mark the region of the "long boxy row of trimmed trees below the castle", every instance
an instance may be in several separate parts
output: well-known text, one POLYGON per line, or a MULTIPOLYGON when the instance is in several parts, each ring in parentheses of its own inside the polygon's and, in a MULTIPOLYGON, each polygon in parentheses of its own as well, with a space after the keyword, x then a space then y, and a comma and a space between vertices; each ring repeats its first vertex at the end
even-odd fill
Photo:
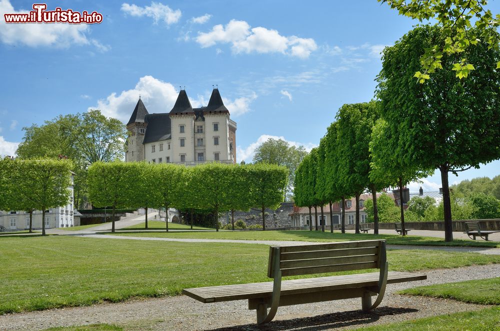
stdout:
MULTIPOLYGON (((191 211, 276 208, 283 201, 288 170, 273 164, 205 163, 193 167, 169 163, 95 162, 88 168, 89 198, 96 207, 177 208, 191 211)), ((234 224, 234 217, 232 217, 234 224)), ((191 217, 192 226, 192 217, 191 217)), ((168 231, 168 221, 165 225, 168 231)))

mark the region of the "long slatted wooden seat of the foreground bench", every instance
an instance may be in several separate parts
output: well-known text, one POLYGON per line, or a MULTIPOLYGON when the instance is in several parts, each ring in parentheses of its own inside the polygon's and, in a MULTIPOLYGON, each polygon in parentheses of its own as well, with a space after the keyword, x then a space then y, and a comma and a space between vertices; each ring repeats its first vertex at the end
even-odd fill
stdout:
MULTIPOLYGON (((281 283, 281 295, 299 294, 306 292, 320 292, 343 288, 357 288, 376 286, 379 273, 360 273, 354 275, 328 276, 319 278, 284 280, 281 283)), ((412 280, 426 279, 421 273, 390 271, 387 283, 397 283, 412 280)), ((220 302, 228 300, 241 300, 259 297, 269 297, 272 294, 272 281, 186 288, 182 293, 201 302, 220 302)))

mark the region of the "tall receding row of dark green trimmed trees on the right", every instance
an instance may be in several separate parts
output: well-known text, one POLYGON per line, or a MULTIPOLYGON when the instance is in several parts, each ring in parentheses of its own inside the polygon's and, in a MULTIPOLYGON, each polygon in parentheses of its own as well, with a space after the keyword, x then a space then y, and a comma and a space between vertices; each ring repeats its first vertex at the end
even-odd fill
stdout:
MULTIPOLYGON (((377 101, 344 104, 319 147, 297 167, 295 203, 322 206, 373 196, 374 233, 378 233, 376 192, 402 187, 438 169, 441 174, 445 240, 453 240, 448 173, 479 167, 500 158, 500 51, 477 42, 464 53, 474 66, 466 79, 455 76, 457 54, 443 54, 442 68, 425 84, 415 80, 425 49, 441 37, 436 26, 418 26, 382 54, 376 81, 377 101)), ((343 208, 342 208, 343 209, 343 208)), ((400 203, 404 229, 403 205, 400 203)), ((344 229, 342 214, 342 231, 344 229)), ((404 231, 403 231, 404 233, 404 231)))

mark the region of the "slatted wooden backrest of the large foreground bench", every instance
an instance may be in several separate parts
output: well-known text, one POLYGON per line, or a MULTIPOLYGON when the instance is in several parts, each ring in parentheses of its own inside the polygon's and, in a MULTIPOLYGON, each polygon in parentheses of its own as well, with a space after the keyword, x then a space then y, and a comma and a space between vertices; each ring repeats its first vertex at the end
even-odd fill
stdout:
POLYGON ((359 240, 269 247, 267 276, 274 277, 276 258, 282 276, 380 268, 385 240, 359 240))

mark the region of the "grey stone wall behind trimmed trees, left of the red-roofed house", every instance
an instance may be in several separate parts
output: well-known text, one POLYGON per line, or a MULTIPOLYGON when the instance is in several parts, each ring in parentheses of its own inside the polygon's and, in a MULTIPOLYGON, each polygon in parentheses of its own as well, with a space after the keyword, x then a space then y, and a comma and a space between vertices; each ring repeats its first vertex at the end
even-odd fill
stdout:
MULTIPOLYGON (((276 228, 276 227, 290 227, 291 218, 289 214, 293 211, 293 202, 281 202, 281 205, 277 209, 266 208, 264 211, 265 227, 266 228, 276 228)), ((237 210, 234 212, 234 221, 242 219, 246 225, 262 225, 262 215, 260 210, 251 208, 249 211, 237 210)), ((223 214, 219 217, 219 221, 222 224, 231 222, 231 212, 223 214)))

